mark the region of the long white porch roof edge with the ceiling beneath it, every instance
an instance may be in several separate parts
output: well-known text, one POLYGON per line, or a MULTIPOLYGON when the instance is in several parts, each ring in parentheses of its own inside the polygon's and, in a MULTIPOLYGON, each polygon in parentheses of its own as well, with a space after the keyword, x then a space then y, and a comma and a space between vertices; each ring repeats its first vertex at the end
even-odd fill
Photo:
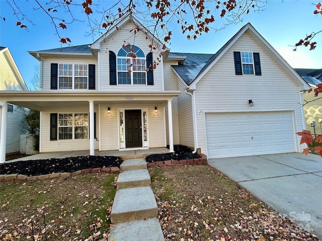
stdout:
POLYGON ((94 104, 108 103, 131 103, 131 104, 162 104, 166 105, 167 100, 178 96, 180 91, 150 92, 150 93, 129 93, 129 92, 49 92, 49 91, 1 91, 0 101, 7 101, 30 109, 41 111, 45 107, 77 107, 89 106, 89 101, 94 104))

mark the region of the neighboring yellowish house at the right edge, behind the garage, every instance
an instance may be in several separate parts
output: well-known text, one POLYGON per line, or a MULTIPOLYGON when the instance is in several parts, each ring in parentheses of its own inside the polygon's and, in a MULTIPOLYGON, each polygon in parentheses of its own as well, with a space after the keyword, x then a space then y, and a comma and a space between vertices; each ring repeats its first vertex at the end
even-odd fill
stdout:
MULTIPOLYGON (((311 86, 312 89, 316 85, 322 83, 322 69, 295 69, 299 75, 311 86)), ((305 92, 303 95, 305 130, 312 134, 322 134, 322 98, 320 95, 314 96, 314 92, 305 92), (311 102, 307 102, 311 101, 311 102)))

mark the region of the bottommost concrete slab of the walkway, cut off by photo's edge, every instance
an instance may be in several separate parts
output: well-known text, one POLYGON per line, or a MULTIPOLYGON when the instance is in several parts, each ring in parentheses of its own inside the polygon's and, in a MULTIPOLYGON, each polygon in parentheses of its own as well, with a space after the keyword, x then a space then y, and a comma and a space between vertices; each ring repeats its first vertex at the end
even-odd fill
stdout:
POLYGON ((164 241, 161 225, 156 218, 116 223, 110 230, 109 241, 164 241))

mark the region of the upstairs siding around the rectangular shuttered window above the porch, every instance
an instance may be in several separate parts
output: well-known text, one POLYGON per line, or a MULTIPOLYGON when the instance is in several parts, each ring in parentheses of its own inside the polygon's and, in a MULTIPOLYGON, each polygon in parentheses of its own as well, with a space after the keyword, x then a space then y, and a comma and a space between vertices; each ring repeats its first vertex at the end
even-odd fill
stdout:
MULTIPOLYGON (((98 90, 98 62, 95 58, 43 58, 42 65, 42 91, 70 91, 70 89, 50 89, 50 64, 95 64, 95 90, 98 90)), ((88 91, 75 89, 74 91, 88 91)), ((93 91, 93 90, 91 90, 93 91)))

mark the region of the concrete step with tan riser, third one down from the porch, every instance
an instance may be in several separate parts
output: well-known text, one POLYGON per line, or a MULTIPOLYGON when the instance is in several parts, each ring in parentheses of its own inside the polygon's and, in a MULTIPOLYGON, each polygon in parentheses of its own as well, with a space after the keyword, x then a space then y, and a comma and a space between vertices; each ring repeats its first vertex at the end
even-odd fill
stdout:
POLYGON ((115 194, 111 222, 126 222, 157 217, 158 209, 150 186, 118 189, 115 194))

